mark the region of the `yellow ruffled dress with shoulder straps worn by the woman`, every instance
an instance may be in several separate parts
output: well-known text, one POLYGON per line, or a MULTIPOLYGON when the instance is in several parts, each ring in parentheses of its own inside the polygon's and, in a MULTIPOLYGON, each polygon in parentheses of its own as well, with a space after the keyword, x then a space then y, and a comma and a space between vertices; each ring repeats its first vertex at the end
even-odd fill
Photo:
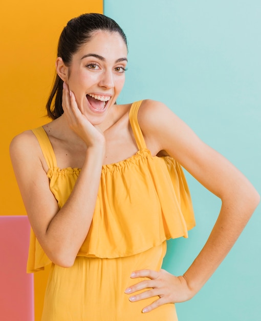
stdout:
MULTIPOLYGON (((125 289, 139 269, 159 270, 166 239, 187 237, 194 215, 181 166, 170 156, 151 156, 138 124, 141 102, 132 105, 129 122, 138 152, 104 165, 90 231, 75 263, 52 263, 42 321, 177 321, 174 304, 149 313, 142 308, 157 297, 129 302, 125 289)), ((49 166, 50 189, 61 208, 79 175, 78 168, 59 169, 45 130, 33 130, 49 166)), ((31 231, 28 272, 51 264, 31 231)))

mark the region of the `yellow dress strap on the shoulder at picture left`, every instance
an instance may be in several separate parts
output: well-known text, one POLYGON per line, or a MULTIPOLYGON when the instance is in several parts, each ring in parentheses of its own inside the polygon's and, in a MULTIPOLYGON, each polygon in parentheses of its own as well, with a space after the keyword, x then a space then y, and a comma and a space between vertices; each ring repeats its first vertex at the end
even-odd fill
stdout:
POLYGON ((43 127, 32 129, 38 139, 42 153, 44 154, 48 168, 57 167, 56 157, 50 139, 43 127))

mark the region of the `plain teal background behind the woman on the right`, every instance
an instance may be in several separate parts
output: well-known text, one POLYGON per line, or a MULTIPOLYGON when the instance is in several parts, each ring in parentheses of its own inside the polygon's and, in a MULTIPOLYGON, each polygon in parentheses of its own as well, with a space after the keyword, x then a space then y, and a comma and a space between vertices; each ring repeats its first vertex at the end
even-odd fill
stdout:
MULTIPOLYGON (((105 0, 125 31, 126 83, 118 103, 164 102, 261 192, 261 2, 105 0)), ((170 240, 164 268, 183 274, 219 213, 220 200, 186 173, 197 227, 170 240)), ((177 304, 179 321, 261 319, 260 206, 204 288, 177 304)), ((160 320, 159 320, 160 321, 160 320)))

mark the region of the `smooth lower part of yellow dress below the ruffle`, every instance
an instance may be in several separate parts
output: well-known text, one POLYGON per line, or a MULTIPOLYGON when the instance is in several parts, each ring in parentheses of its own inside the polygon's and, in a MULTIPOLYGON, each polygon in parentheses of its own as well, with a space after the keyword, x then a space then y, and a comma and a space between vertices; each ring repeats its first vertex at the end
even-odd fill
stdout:
POLYGON ((142 313, 156 298, 129 302, 130 295, 124 293, 128 286, 144 280, 131 279, 134 270, 160 269, 165 248, 164 242, 132 256, 78 256, 71 268, 53 264, 41 321, 177 321, 175 305, 142 313))

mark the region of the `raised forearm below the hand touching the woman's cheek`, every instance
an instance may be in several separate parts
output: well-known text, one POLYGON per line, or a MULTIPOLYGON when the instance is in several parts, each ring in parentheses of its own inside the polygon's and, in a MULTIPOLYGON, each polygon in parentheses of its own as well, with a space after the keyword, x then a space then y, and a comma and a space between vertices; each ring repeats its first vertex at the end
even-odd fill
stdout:
POLYGON ((88 149, 71 195, 42 237, 44 249, 54 263, 71 266, 88 234, 97 200, 103 156, 101 148, 88 149))

